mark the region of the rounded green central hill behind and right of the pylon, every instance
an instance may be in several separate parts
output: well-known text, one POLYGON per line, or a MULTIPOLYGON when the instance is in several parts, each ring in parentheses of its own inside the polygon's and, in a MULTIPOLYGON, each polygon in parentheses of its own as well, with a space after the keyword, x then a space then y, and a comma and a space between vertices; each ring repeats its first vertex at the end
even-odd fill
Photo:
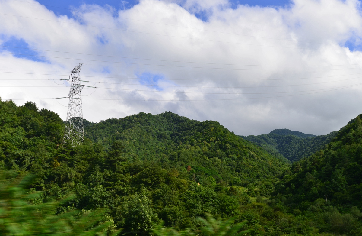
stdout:
POLYGON ((86 137, 106 147, 120 140, 129 160, 152 160, 165 166, 195 171, 202 183, 212 175, 217 182, 248 186, 270 179, 288 168, 286 163, 242 140, 215 121, 199 122, 172 112, 139 113, 122 119, 87 124, 86 137))

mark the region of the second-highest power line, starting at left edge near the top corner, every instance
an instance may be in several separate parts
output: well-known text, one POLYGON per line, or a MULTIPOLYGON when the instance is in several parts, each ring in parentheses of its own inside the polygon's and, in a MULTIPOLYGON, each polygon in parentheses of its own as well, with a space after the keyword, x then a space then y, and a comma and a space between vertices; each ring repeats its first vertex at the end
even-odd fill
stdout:
POLYGON ((156 36, 165 36, 165 37, 173 37, 173 38, 184 38, 184 39, 200 40, 200 41, 209 41, 209 42, 221 42, 221 43, 226 43, 226 44, 239 44, 239 45, 262 46, 262 47, 279 47, 279 48, 302 49, 302 50, 341 51, 341 50, 334 50, 334 49, 318 49, 318 48, 302 48, 302 47, 283 47, 283 46, 260 45, 260 44, 245 44, 245 43, 239 43, 239 42, 226 42, 226 41, 218 41, 218 40, 207 40, 207 39, 202 39, 202 38, 189 38, 189 37, 173 36, 173 35, 166 35, 166 34, 155 34, 155 33, 147 33, 147 32, 140 32, 140 31, 134 31, 134 30, 108 28, 108 27, 95 26, 95 25, 82 25, 82 24, 72 23, 72 22, 47 20, 47 19, 41 19, 41 18, 35 18, 35 17, 28 17, 28 16, 17 16, 17 15, 5 14, 5 13, 0 13, 0 15, 23 17, 23 18, 29 18, 29 19, 34 19, 34 20, 44 20, 44 21, 65 23, 65 24, 71 24, 71 25, 89 26, 89 27, 101 28, 101 29, 119 30, 119 31, 125 31, 125 32, 132 32, 132 33, 150 34, 150 35, 156 35, 156 36))

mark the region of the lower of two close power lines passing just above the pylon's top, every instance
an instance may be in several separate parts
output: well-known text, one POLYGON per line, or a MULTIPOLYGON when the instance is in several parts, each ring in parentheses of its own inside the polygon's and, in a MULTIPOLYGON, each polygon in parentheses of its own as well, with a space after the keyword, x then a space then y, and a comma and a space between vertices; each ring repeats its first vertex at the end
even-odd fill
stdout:
POLYGON ((94 62, 108 62, 108 63, 121 63, 121 64, 131 64, 131 65, 147 65, 147 66, 166 66, 166 67, 182 67, 182 68, 195 68, 195 69, 216 69, 216 70, 252 70, 252 71, 325 71, 325 70, 352 70, 352 69, 361 69, 361 67, 355 68, 340 68, 340 69, 307 69, 307 70, 271 70, 271 69, 242 69, 242 68, 215 68, 215 67, 196 67, 196 66, 174 66, 174 65, 156 65, 156 64, 146 64, 146 63, 132 63, 132 62, 114 62, 114 61, 101 61, 101 60, 91 60, 91 59, 79 59, 79 58, 66 58, 66 57, 51 57, 51 56, 42 56, 42 55, 30 55, 30 54, 21 54, 21 53, 4 53, 11 55, 25 55, 31 57, 46 57, 46 58, 58 58, 58 59, 70 59, 77 61, 94 61, 94 62))

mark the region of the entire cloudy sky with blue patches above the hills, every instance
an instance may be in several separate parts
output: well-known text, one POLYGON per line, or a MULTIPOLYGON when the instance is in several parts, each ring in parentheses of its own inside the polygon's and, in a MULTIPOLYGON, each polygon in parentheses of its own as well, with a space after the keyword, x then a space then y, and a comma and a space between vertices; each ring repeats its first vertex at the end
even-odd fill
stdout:
POLYGON ((165 111, 240 135, 322 135, 362 113, 357 0, 0 0, 0 97, 65 120, 165 111), (56 99, 60 98, 60 99, 56 99))

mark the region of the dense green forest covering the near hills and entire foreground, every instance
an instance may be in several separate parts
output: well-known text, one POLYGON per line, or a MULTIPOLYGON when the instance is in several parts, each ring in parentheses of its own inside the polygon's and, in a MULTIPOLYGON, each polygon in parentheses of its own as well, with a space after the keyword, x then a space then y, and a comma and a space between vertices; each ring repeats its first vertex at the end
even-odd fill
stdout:
POLYGON ((172 112, 84 124, 71 146, 56 113, 0 100, 1 235, 362 235, 361 116, 292 165, 172 112))

